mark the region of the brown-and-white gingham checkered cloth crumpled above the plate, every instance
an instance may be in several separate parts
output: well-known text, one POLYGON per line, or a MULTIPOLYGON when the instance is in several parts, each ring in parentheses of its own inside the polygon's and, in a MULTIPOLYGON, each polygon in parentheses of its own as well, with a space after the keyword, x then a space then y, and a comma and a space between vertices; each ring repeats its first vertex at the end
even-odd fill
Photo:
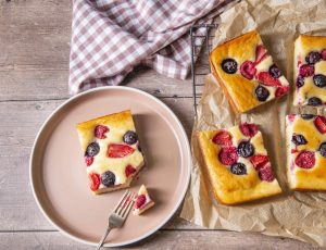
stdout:
POLYGON ((138 64, 185 79, 191 63, 189 28, 195 22, 210 22, 222 3, 74 0, 70 92, 117 85, 138 64))

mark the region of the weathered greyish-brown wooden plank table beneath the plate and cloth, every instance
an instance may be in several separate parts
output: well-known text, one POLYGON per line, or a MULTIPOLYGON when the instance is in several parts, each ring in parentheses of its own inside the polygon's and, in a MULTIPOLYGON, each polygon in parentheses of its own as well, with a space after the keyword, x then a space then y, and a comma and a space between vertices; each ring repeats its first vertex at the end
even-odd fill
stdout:
MULTIPOLYGON (((0 2, 0 249, 92 249, 54 229, 32 195, 28 160, 48 115, 68 98, 72 2, 0 2)), ((125 85, 165 102, 190 135, 191 82, 176 80, 138 67, 125 85)), ((153 249, 311 249, 297 240, 259 234, 208 230, 177 215, 134 248, 153 249)))

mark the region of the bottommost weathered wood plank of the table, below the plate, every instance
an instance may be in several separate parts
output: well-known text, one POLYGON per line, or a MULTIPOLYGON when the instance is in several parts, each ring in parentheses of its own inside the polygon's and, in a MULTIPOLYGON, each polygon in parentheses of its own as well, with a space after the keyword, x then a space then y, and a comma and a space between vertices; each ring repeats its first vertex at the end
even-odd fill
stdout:
MULTIPOLYGON (((58 232, 0 233, 3 249, 93 249, 75 242, 58 232)), ((131 249, 318 249, 292 239, 259 234, 218 230, 160 230, 131 249)))

